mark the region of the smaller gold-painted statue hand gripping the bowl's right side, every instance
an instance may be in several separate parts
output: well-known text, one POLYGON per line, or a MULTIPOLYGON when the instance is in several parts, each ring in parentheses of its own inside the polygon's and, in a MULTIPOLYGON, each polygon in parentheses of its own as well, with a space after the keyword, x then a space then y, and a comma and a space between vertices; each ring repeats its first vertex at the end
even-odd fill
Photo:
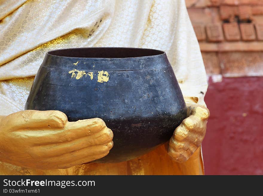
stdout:
POLYGON ((201 145, 210 112, 206 107, 191 105, 190 115, 175 129, 169 141, 168 154, 176 162, 185 162, 201 145))

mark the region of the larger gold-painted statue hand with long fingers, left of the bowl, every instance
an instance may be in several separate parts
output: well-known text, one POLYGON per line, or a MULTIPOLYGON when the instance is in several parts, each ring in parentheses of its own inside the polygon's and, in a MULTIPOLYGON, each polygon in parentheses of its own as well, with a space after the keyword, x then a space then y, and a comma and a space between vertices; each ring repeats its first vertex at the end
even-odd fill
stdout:
POLYGON ((59 111, 20 111, 0 117, 0 161, 37 169, 69 168, 107 155, 112 138, 100 118, 68 122, 59 111))

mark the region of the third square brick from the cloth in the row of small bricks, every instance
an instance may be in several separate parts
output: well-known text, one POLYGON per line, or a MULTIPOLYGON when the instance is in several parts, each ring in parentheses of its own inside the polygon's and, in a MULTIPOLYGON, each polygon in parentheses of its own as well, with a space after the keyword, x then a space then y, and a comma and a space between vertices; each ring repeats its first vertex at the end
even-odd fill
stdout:
POLYGON ((238 41, 241 38, 238 24, 235 23, 224 23, 223 24, 224 34, 227 41, 238 41))

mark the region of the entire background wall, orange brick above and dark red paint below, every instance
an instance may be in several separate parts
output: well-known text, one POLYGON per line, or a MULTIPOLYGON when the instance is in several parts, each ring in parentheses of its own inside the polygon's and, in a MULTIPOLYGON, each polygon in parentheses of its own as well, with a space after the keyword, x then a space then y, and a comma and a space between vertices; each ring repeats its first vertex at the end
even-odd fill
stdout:
POLYGON ((186 0, 209 78, 207 175, 263 175, 263 0, 186 0))

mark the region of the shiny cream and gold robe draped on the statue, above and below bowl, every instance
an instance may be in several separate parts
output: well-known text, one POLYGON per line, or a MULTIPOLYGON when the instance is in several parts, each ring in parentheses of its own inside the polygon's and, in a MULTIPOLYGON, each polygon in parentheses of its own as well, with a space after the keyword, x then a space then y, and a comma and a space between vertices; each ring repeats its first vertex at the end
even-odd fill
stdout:
MULTIPOLYGON (((0 115, 24 109, 49 50, 142 47, 166 51, 184 97, 205 105, 207 79, 183 0, 0 0, 0 115)), ((0 162, 0 174, 203 174, 201 149, 186 163, 160 146, 123 163, 36 170, 0 162)))

